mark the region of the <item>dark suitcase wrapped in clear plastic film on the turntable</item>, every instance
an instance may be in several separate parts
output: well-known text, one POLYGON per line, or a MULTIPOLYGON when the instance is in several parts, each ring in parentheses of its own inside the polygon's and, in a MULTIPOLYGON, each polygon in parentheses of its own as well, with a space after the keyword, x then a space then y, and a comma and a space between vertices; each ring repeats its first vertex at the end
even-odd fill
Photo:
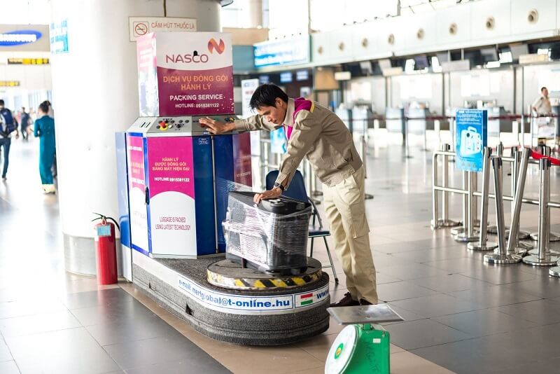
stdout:
POLYGON ((226 258, 263 272, 304 272, 311 204, 281 196, 255 205, 254 196, 230 192, 223 222, 226 258))

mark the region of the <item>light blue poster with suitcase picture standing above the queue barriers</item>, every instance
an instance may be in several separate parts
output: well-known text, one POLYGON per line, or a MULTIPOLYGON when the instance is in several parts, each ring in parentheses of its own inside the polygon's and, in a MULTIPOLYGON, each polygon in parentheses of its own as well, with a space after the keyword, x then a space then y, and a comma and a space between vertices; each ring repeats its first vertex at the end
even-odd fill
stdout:
POLYGON ((482 172, 482 153, 488 141, 488 111, 458 109, 455 116, 455 165, 467 172, 482 172))

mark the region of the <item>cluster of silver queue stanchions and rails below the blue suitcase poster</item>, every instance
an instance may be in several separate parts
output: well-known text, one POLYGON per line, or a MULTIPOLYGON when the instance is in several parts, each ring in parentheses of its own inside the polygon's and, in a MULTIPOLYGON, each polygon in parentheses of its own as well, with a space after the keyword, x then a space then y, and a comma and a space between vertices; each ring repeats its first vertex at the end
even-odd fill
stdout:
MULTIPOLYGON (((463 217, 465 225, 463 225, 463 234, 457 235, 456 240, 468 243, 468 249, 474 251, 490 251, 494 248, 496 250, 493 254, 484 256, 484 261, 496 265, 518 263, 521 260, 533 266, 552 266, 560 260, 560 254, 549 249, 549 239, 554 233, 550 233, 550 208, 560 208, 560 202, 550 201, 550 167, 560 166, 560 159, 550 156, 550 148, 542 147, 542 153, 531 150, 531 148, 523 148, 523 151, 512 149, 512 157, 504 157, 499 155, 491 155, 491 148, 484 148, 484 158, 482 167, 482 192, 474 191, 476 185, 472 183, 472 176, 475 174, 471 172, 463 172, 463 188, 453 188, 448 185, 448 175, 444 173, 445 178, 442 181, 442 186, 438 185, 437 170, 440 169, 437 165, 438 158, 442 157, 446 160, 455 155, 454 152, 449 151, 449 146, 444 146, 442 151, 436 151, 433 155, 433 212, 432 212, 432 228, 438 229, 446 227, 444 222, 447 220, 448 212, 444 212, 440 218, 439 204, 438 204, 438 191, 441 192, 442 201, 445 201, 447 206, 447 196, 449 193, 458 193, 463 196, 463 217), (512 195, 503 195, 503 162, 512 162, 512 195), (489 169, 490 164, 493 166, 494 176, 494 194, 489 193, 489 169), (540 193, 538 200, 524 198, 524 188, 526 182, 526 174, 528 165, 539 166, 539 186, 540 193), (474 188, 474 189, 473 189, 474 188), (471 207, 469 204, 469 197, 472 199, 474 196, 482 197, 482 209, 480 212, 480 230, 477 231, 476 239, 471 239, 470 235, 475 233, 472 219, 472 211, 469 213, 468 209, 471 207), (488 223, 488 200, 492 198, 496 204, 496 228, 498 232, 497 244, 487 242, 485 226, 488 223), (466 200, 466 202, 465 202, 466 200), (503 210, 503 201, 512 202, 512 222, 510 224, 509 233, 505 230, 505 216, 503 210), (538 205, 539 218, 538 218, 538 233, 536 249, 527 252, 528 248, 533 248, 530 244, 519 242, 523 237, 519 230, 519 218, 521 214, 522 204, 538 205), (507 240, 506 240, 507 238, 507 240), (476 240, 476 242, 475 242, 476 240), (533 256, 526 256, 532 254, 533 256)), ((447 160, 446 160, 447 161, 447 160)), ((443 167, 442 169, 445 169, 443 167)), ((449 227, 449 226, 447 226, 449 227)), ((560 265, 560 264, 559 264, 560 265)), ((560 266, 550 270, 551 275, 560 277, 560 266)))

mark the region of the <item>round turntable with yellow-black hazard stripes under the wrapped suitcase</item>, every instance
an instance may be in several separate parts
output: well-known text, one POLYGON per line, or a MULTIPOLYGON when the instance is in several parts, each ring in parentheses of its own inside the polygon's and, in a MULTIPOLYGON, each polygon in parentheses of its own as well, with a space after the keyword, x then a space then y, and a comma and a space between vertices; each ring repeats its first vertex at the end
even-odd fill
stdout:
POLYGON ((301 275, 275 275, 272 272, 260 272, 241 265, 227 258, 208 266, 208 282, 226 289, 266 290, 293 289, 321 279, 321 263, 315 258, 307 258, 307 270, 301 275))

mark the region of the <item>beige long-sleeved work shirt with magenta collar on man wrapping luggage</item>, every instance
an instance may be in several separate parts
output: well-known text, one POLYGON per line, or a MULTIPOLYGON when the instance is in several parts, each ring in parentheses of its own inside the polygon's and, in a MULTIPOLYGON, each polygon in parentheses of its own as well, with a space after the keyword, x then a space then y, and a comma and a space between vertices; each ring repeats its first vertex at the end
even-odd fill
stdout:
MULTIPOLYGON (((352 135, 335 113, 317 103, 309 111, 297 112, 295 120, 293 113, 294 101, 288 99, 283 125, 291 126, 293 130, 280 165, 277 183, 283 183, 287 188, 306 156, 313 165, 315 175, 327 186, 337 185, 362 166, 352 135)), ((238 131, 274 131, 279 127, 282 125, 269 123, 258 115, 235 121, 238 131)))

